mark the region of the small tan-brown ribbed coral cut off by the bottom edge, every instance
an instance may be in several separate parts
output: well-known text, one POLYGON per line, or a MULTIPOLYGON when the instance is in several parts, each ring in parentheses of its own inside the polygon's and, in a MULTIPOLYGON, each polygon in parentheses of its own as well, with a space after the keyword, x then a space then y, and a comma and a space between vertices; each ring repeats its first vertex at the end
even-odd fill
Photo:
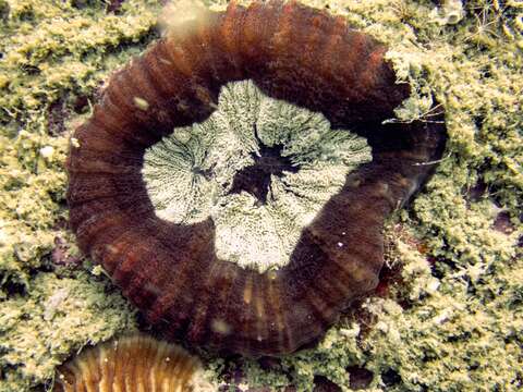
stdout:
POLYGON ((199 360, 179 346, 130 335, 87 348, 60 366, 53 391, 210 391, 200 369, 199 360))

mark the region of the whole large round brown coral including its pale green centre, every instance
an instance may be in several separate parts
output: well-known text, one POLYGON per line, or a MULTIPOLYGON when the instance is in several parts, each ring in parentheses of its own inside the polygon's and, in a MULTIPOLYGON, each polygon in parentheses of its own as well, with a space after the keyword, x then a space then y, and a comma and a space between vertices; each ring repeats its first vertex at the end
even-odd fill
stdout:
MULTIPOLYGON (((321 336, 376 286, 384 221, 428 179, 445 145, 441 113, 384 123, 410 93, 386 50, 342 17, 295 2, 232 3, 173 29, 111 77, 75 132, 68 199, 81 248, 170 339, 278 355, 321 336), (254 101, 222 98, 234 88, 254 101), (279 112, 260 121, 266 99, 279 112), (290 122, 279 120, 285 111, 290 122), (372 161, 365 143, 348 143, 357 137, 372 161), (354 154, 363 158, 354 162, 354 154), (299 181, 307 166, 336 161, 361 164, 327 198, 299 181), (304 208, 314 217, 276 211, 285 193, 296 194, 295 206, 316 199, 304 208), (219 230, 230 209, 246 213, 242 203, 248 213, 292 222, 288 260, 264 257, 278 268, 239 261, 242 236, 219 230)), ((281 221, 271 220, 273 233, 289 226, 281 221)))

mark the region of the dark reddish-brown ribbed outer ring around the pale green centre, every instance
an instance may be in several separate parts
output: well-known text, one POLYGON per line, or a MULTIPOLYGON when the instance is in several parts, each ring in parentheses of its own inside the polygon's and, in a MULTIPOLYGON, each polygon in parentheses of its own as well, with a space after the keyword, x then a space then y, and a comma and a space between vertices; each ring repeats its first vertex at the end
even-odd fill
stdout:
MULTIPOLYGON (((71 226, 83 252, 168 339, 252 356, 294 352, 376 287, 384 221, 441 158, 443 114, 384 124, 410 95, 384 59, 387 48, 296 2, 231 3, 179 30, 117 72, 76 130, 71 226), (220 88, 243 79, 366 137, 373 151, 301 231, 289 264, 265 272, 217 256, 211 218, 158 218, 142 175, 148 147, 208 119, 220 88)), ((256 173, 244 180, 256 182, 256 173)))

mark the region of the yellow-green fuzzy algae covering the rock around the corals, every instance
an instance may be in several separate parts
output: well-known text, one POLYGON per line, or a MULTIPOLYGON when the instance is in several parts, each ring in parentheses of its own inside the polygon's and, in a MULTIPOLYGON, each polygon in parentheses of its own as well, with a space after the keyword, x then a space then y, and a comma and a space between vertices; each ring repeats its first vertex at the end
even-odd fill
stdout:
MULTIPOLYGON (((447 113, 447 151, 415 201, 390 219, 396 278, 385 293, 315 348, 269 366, 202 353, 209 371, 240 367, 239 390, 306 391, 325 376, 348 391, 355 367, 372 372, 368 391, 520 390, 521 2, 467 1, 461 20, 447 22, 445 4, 455 1, 307 3, 390 46, 399 76, 414 86, 399 119, 430 121, 434 96, 447 113)), ((134 328, 105 277, 52 261, 57 238, 63 258, 80 257, 63 223, 69 134, 102 81, 153 41, 158 10, 136 0, 118 13, 97 1, 0 2, 0 391, 45 384, 69 354, 134 328)))

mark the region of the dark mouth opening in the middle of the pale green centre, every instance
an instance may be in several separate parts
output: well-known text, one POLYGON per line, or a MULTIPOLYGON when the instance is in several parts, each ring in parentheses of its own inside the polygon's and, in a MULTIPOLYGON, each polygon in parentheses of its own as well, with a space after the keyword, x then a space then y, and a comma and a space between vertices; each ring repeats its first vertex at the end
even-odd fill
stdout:
POLYGON ((254 164, 240 170, 233 179, 231 194, 240 194, 245 191, 257 198, 258 203, 267 203, 269 192, 270 176, 282 176, 283 172, 297 173, 300 166, 292 163, 290 157, 283 157, 281 150, 283 145, 268 147, 259 139, 255 127, 254 135, 260 148, 259 155, 252 154, 254 164))

